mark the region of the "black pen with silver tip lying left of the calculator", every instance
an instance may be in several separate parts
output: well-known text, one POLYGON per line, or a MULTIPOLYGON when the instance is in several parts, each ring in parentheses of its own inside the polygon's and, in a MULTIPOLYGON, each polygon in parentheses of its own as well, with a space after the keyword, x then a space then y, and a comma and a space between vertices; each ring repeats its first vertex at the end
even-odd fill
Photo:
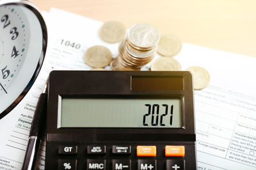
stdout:
POLYGON ((47 111, 47 83, 42 94, 36 104, 36 110, 29 132, 28 147, 23 162, 22 170, 35 169, 36 155, 38 153, 40 143, 42 141, 42 134, 46 125, 46 111, 47 111))

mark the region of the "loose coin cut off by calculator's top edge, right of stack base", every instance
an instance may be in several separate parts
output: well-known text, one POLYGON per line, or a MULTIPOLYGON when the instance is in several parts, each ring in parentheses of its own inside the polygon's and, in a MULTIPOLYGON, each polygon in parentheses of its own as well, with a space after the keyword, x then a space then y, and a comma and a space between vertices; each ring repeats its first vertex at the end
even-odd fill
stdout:
POLYGON ((180 64, 171 57, 160 57, 151 65, 152 71, 180 71, 180 64))

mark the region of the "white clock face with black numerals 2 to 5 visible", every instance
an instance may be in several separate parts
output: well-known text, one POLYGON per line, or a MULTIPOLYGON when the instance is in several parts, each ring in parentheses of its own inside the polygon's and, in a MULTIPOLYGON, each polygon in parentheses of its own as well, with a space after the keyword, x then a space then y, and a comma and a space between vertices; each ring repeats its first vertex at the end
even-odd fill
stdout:
POLYGON ((0 5, 0 113, 33 83, 43 48, 38 16, 26 5, 0 5))

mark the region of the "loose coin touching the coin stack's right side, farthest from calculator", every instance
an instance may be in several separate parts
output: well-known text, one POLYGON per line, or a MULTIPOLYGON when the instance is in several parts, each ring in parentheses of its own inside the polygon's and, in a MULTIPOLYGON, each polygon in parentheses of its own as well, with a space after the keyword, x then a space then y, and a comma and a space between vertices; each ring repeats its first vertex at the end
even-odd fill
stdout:
POLYGON ((161 36, 157 52, 163 56, 174 56, 180 52, 182 43, 177 36, 164 35, 161 36))

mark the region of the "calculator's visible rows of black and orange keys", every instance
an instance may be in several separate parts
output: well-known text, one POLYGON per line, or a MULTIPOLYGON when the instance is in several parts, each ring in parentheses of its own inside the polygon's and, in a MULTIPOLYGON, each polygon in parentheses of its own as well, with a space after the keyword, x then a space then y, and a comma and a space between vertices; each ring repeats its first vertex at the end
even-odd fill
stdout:
POLYGON ((162 145, 159 148, 159 146, 147 145, 88 145, 82 148, 81 145, 58 146, 58 154, 61 155, 61 159, 58 160, 58 169, 76 170, 77 168, 80 169, 81 166, 88 170, 185 169, 185 146, 162 145), (84 155, 83 160, 80 159, 79 154, 80 156, 81 154, 84 155), (113 158, 109 160, 111 157, 113 158), (159 160, 160 157, 161 161, 159 160), (157 160, 161 162, 160 169, 157 160), (84 166, 81 164, 84 164, 84 166))

